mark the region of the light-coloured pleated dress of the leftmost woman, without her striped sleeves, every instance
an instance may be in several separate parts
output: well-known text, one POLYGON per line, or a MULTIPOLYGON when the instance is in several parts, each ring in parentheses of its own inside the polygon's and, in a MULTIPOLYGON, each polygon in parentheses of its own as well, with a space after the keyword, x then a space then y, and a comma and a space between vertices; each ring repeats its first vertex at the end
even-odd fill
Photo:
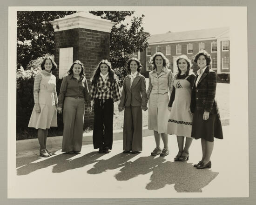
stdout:
POLYGON ((42 76, 38 93, 40 112, 36 112, 34 106, 28 127, 45 130, 57 126, 57 110, 54 100, 56 77, 54 75, 44 76, 42 73, 40 74, 42 76))

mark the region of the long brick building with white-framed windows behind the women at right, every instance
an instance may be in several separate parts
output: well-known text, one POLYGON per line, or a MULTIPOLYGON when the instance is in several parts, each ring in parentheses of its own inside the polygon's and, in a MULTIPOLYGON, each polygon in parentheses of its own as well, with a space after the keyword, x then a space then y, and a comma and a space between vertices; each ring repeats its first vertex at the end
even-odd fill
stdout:
MULTIPOLYGON (((175 73, 176 58, 185 54, 193 62, 196 53, 205 49, 212 58, 211 68, 216 73, 229 73, 229 27, 211 28, 195 31, 163 33, 151 35, 148 40, 149 46, 143 51, 133 55, 141 61, 141 74, 148 77, 152 66, 149 58, 156 52, 162 52, 169 60, 169 68, 175 73)), ((193 63, 192 69, 198 67, 193 63)))

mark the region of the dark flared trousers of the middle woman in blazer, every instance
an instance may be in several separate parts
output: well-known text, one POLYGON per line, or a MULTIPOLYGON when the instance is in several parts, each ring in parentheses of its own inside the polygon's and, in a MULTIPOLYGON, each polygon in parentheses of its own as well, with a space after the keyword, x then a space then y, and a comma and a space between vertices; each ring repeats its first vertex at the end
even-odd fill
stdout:
POLYGON ((123 150, 142 151, 141 107, 125 107, 123 121, 123 150))

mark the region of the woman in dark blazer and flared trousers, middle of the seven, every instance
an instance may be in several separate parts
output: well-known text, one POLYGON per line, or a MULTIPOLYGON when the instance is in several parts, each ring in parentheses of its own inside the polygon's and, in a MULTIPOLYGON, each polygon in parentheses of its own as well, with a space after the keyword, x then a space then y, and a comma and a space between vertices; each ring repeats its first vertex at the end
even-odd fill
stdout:
POLYGON ((130 75, 124 78, 119 111, 124 110, 123 153, 133 154, 142 151, 142 110, 148 109, 146 103, 146 80, 140 74, 141 63, 132 58, 127 62, 130 75))

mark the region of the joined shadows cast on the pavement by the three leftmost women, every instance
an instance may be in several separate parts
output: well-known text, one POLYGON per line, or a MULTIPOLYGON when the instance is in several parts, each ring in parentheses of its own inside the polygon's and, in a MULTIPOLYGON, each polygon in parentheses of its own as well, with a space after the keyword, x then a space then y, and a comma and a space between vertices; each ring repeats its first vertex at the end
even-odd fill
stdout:
MULTIPOLYGON (((53 155, 49 158, 46 158, 42 161, 29 163, 17 169, 17 175, 27 175, 31 172, 37 171, 39 169, 46 168, 48 166, 54 165, 53 172, 65 172, 69 169, 75 169, 78 167, 83 167, 84 165, 88 165, 94 163, 94 160, 101 157, 97 152, 90 152, 88 154, 82 155, 76 159, 69 159, 74 157, 74 155, 62 153, 58 155, 53 155), (55 167, 56 166, 56 167, 55 167)), ((40 159, 38 156, 32 157, 33 161, 40 159)), ((32 160, 28 160, 29 162, 32 160)))

